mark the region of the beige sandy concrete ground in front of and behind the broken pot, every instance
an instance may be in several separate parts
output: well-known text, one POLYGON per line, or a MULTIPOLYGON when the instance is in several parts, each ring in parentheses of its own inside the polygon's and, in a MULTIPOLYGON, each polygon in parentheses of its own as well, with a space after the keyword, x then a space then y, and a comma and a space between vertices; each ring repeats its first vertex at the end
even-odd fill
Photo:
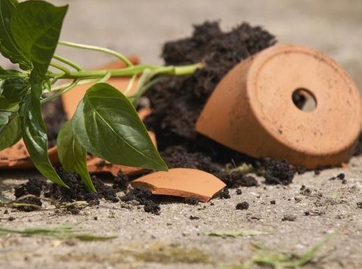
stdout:
MULTIPOLYGON (((62 38, 101 45, 123 54, 138 54, 144 63, 162 63, 158 55, 166 40, 190 35, 192 24, 221 20, 223 29, 248 21, 275 33, 282 43, 301 43, 332 56, 362 89, 362 1, 173 1, 173 0, 53 0, 70 3, 62 38)), ((61 47, 63 56, 91 68, 110 57, 61 47)), ((1 61, 1 66, 6 67, 1 61)), ((1 172, 0 190, 11 188, 34 172, 1 172)), ((33 213, 10 210, 0 226, 80 223, 84 231, 117 236, 105 242, 0 237, 0 268, 218 268, 236 266, 259 253, 255 243, 276 251, 302 254, 328 234, 335 236, 306 268, 362 268, 362 157, 345 169, 329 169, 315 176, 296 176, 287 186, 242 188, 231 199, 213 199, 197 206, 164 203, 159 216, 142 208, 102 201, 80 215, 61 215, 54 207, 33 213), (345 173, 347 184, 329 180, 345 173), (301 191, 305 185, 308 191, 301 191), (271 204, 275 200, 276 204, 271 204), (248 210, 235 210, 248 201, 248 210), (190 216, 199 217, 190 220, 190 216), (9 217, 15 218, 10 221, 9 217), (95 217, 97 220, 95 220, 95 217), (283 220, 284 219, 284 220, 283 220), (285 220, 287 219, 287 220, 285 220), (252 229, 266 234, 236 238, 211 237, 216 230, 252 229)), ((264 250, 270 254, 271 250, 264 250)), ((265 253, 264 253, 265 255, 265 253)))

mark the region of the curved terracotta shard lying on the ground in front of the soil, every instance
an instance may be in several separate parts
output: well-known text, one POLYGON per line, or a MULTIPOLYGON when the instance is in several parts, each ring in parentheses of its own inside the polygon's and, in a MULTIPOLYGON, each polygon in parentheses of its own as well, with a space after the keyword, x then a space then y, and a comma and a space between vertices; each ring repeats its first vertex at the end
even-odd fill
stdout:
POLYGON ((131 185, 151 190, 153 194, 197 197, 203 202, 209 201, 226 186, 216 176, 190 168, 158 171, 133 180, 131 185))

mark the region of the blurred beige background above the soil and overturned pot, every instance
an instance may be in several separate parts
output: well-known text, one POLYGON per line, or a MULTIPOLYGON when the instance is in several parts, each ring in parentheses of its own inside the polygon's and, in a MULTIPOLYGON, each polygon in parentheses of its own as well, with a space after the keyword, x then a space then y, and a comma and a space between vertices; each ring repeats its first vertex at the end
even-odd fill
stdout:
MULTIPOLYGON (((63 40, 100 45, 143 63, 163 63, 167 40, 190 36, 193 24, 220 20, 225 31, 241 22, 261 25, 280 43, 308 45, 344 66, 362 89, 362 0, 50 0, 68 3, 63 40)), ((83 67, 110 57, 59 47, 83 67)))

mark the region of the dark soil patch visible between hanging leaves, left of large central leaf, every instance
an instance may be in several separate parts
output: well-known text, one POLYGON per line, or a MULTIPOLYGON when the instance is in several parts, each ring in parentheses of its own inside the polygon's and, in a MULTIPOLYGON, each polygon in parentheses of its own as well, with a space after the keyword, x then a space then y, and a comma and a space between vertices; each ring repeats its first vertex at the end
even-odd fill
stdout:
POLYGON ((56 137, 61 125, 67 121, 66 113, 60 98, 46 102, 41 110, 45 125, 47 125, 48 148, 52 148, 56 145, 56 137))

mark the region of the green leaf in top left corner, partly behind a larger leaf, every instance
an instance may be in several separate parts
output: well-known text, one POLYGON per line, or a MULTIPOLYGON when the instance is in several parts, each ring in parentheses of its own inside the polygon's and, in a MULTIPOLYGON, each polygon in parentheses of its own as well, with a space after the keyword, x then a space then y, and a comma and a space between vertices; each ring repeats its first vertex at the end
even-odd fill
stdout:
POLYGON ((17 6, 16 0, 0 0, 0 52, 12 63, 19 63, 20 68, 23 70, 29 70, 31 64, 17 47, 10 29, 11 17, 17 6))

